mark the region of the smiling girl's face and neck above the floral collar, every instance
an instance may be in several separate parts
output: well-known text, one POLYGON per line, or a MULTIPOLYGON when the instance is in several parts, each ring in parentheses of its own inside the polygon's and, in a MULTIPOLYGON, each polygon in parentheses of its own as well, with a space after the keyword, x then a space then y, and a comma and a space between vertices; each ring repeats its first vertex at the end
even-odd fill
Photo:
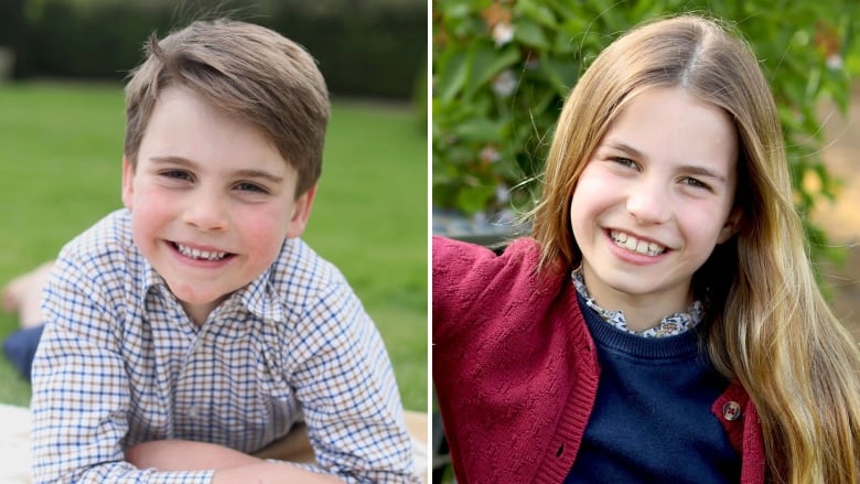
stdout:
POLYGON ((734 233, 737 160, 729 115, 680 88, 646 90, 622 110, 570 208, 601 306, 656 321, 687 308, 694 272, 734 233))

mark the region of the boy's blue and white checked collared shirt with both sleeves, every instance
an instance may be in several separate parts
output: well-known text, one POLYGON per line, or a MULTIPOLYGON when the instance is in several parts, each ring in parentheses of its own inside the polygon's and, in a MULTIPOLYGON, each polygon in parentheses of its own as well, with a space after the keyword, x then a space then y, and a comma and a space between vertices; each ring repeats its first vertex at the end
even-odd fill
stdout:
POLYGON ((184 439, 250 453, 298 420, 314 470, 418 481, 383 341, 343 276, 299 239, 196 326, 120 209, 62 250, 43 313, 35 482, 208 483, 212 471, 138 470, 122 451, 184 439))

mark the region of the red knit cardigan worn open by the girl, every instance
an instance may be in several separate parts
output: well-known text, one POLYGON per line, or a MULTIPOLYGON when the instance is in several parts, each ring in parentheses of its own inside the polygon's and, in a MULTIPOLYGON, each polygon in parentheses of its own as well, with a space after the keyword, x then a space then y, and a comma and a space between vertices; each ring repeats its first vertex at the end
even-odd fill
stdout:
MULTIPOLYGON (((496 256, 433 237, 432 256, 433 383, 458 482, 562 482, 600 377, 569 273, 538 277, 533 239, 496 256)), ((731 384, 711 411, 741 455, 741 483, 764 483, 746 391, 731 384)))

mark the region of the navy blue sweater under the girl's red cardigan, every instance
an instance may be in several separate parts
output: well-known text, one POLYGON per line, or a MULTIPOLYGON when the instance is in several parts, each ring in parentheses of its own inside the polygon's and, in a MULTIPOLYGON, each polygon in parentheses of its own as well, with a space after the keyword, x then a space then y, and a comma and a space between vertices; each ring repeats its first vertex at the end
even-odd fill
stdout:
POLYGON ((642 337, 603 321, 580 297, 601 365, 598 398, 566 483, 729 483, 740 456, 710 407, 729 383, 696 331, 642 337))

